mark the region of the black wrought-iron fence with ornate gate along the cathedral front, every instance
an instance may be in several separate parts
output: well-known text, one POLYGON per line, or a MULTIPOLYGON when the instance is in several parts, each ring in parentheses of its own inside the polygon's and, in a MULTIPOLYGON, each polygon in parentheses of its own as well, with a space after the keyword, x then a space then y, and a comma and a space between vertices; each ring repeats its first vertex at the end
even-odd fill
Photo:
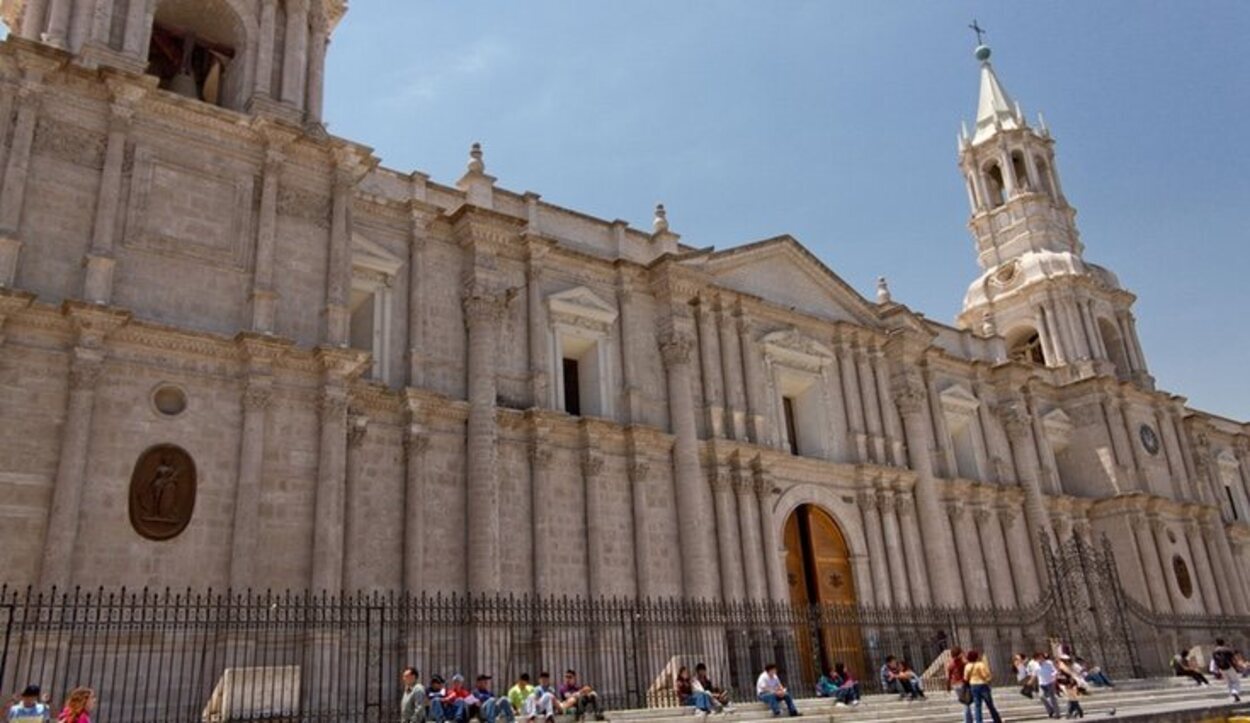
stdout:
POLYGON ((1056 575, 1064 554, 1048 552, 1052 582, 1022 609, 0 588, 0 692, 38 683, 59 702, 89 685, 105 723, 375 722, 396 719, 405 665, 489 673, 496 693, 571 668, 606 707, 639 708, 676 704, 672 678, 696 663, 750 700, 769 662, 810 695, 835 662, 879 689, 886 655, 940 687, 952 644, 984 650, 1000 679, 1014 652, 1060 642, 1128 678, 1168 674, 1181 647, 1250 640, 1250 618, 1150 613, 1080 544, 1086 577, 1056 575))

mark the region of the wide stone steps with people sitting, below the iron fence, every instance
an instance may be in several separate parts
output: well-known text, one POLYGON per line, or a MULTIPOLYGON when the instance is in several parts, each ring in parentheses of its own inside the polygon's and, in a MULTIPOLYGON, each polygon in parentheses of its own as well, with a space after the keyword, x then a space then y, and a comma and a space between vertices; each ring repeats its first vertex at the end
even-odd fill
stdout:
MULTIPOLYGON (((1115 688, 1096 688, 1081 697, 1086 719, 1120 722, 1215 722, 1250 714, 1250 695, 1245 703, 1234 703, 1224 683, 1212 680, 1209 687, 1196 687, 1180 678, 1124 680, 1115 688)), ((1250 690, 1250 685, 1248 685, 1250 690)), ((1029 699, 1019 688, 1004 684, 994 689, 994 702, 1004 720, 1045 720, 1046 710, 1038 698, 1029 699)), ((1066 699, 1060 697, 1060 713, 1066 713, 1066 699)), ((859 705, 835 707, 828 698, 796 700, 802 720, 819 723, 885 722, 959 723, 962 705, 950 693, 930 692, 921 700, 899 700, 898 695, 865 695, 859 705)), ((691 708, 649 708, 614 710, 610 723, 692 723, 691 708)), ((706 723, 771 723, 772 717, 762 703, 736 703, 731 712, 710 715, 706 723)), ((989 723, 989 710, 985 722, 989 723)))

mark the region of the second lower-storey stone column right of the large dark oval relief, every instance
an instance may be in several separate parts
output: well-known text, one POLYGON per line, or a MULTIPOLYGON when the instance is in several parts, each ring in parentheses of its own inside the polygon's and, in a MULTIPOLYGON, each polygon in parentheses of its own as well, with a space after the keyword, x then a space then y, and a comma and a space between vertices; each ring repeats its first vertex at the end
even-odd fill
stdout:
POLYGON ((355 353, 320 350, 325 369, 319 399, 321 444, 318 452, 312 533, 314 592, 342 589, 345 495, 348 484, 348 377, 355 353))

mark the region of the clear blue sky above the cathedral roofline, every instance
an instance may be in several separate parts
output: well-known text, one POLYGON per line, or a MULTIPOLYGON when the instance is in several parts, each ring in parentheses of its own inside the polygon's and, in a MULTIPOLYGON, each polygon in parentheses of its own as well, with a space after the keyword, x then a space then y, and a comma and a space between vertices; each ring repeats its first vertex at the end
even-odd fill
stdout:
POLYGON ((356 0, 331 131, 451 183, 470 143, 514 190, 692 245, 799 238, 950 323, 978 269, 955 134, 972 18, 1058 139, 1086 256, 1139 295, 1161 388, 1250 419, 1250 3, 356 0))

